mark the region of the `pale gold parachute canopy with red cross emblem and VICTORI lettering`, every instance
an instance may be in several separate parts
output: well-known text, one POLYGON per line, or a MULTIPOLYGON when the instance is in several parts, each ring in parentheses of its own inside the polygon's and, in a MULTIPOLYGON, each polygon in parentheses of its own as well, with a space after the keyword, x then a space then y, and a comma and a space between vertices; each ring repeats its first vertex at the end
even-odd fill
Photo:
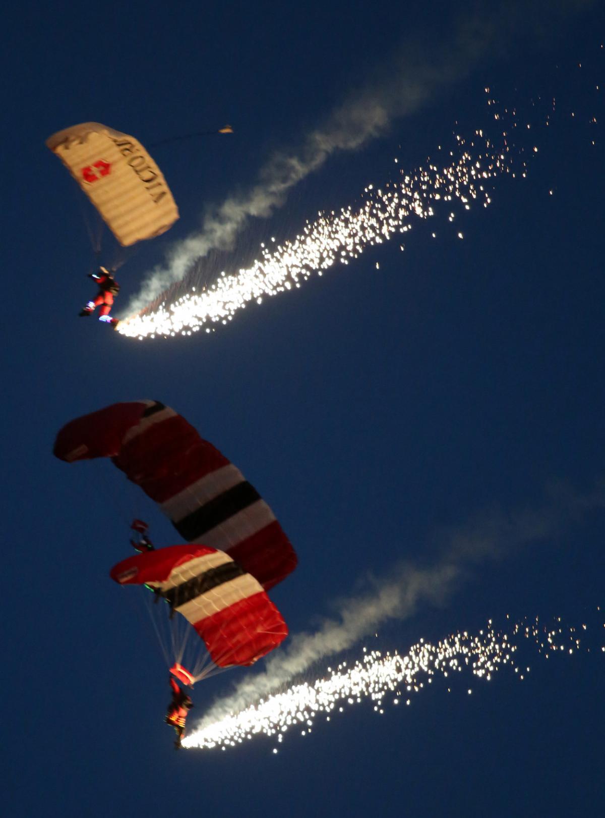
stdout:
POLYGON ((47 147, 74 177, 124 247, 168 230, 178 209, 141 142, 98 122, 53 133, 47 147))

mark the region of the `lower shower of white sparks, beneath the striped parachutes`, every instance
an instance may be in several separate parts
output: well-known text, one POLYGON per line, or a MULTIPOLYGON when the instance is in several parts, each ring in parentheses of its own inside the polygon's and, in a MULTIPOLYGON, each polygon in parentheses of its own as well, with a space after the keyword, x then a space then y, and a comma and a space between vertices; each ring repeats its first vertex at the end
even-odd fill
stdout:
MULTIPOLYGON (((364 648, 363 658, 352 665, 343 662, 328 667, 328 675, 311 684, 293 685, 240 712, 202 724, 183 740, 183 747, 226 750, 254 736, 267 735, 273 744, 272 752, 277 753, 288 731, 309 735, 316 721, 330 721, 347 706, 368 699, 374 712, 383 715, 390 706, 409 705, 415 694, 433 682, 453 685, 459 674, 471 674, 468 683, 464 680, 467 694, 473 693, 474 681, 491 681, 504 668, 523 681, 531 668, 526 652, 520 649, 522 640, 529 640, 537 654, 549 659, 559 654, 590 652, 580 639, 586 630, 585 624, 579 628, 565 626, 560 617, 548 625, 536 617, 509 621, 509 629, 496 631, 490 619, 477 636, 463 631, 437 645, 421 639, 406 655, 364 648)), ((603 636, 603 628, 601 632, 603 636)), ((599 653, 605 653, 605 646, 599 653)), ((447 690, 450 692, 451 687, 447 686, 447 690)))

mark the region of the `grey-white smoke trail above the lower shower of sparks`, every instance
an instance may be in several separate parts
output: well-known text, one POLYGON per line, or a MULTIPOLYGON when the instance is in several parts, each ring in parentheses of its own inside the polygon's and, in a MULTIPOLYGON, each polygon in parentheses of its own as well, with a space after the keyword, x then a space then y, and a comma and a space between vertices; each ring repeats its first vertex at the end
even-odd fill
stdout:
POLYGON ((523 546, 560 534, 567 522, 605 508, 605 485, 580 495, 567 488, 551 490, 553 502, 540 510, 510 515, 491 512, 461 531, 443 533, 446 551, 432 566, 401 564, 387 580, 374 582, 370 591, 343 600, 338 615, 327 619, 316 633, 289 640, 266 664, 261 674, 244 679, 233 694, 213 704, 198 729, 240 712, 260 697, 280 688, 322 658, 352 647, 385 622, 412 616, 421 604, 444 605, 468 578, 473 564, 498 560, 523 546))

